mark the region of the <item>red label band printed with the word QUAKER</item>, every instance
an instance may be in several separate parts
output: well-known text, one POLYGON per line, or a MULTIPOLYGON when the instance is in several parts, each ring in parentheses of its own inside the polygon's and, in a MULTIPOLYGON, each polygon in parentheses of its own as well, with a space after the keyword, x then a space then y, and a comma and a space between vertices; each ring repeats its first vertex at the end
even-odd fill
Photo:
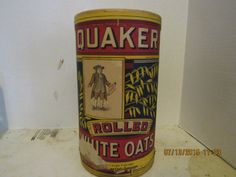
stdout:
POLYGON ((142 20, 94 20, 79 23, 77 54, 158 55, 160 25, 142 20))

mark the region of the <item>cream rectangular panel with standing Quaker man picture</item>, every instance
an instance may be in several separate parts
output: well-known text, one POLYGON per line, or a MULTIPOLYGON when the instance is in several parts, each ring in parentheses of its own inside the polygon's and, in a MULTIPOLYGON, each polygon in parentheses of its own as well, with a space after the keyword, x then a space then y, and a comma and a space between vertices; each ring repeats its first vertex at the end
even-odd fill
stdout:
POLYGON ((85 115, 94 118, 122 118, 123 61, 84 59, 85 115))

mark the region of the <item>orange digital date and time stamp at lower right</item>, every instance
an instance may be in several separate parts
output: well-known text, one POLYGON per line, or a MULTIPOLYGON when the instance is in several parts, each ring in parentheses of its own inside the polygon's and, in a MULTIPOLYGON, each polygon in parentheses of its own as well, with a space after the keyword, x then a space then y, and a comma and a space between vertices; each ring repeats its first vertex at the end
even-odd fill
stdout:
POLYGON ((222 150, 216 149, 199 149, 199 148, 165 148, 165 156, 210 156, 210 155, 222 155, 222 150))

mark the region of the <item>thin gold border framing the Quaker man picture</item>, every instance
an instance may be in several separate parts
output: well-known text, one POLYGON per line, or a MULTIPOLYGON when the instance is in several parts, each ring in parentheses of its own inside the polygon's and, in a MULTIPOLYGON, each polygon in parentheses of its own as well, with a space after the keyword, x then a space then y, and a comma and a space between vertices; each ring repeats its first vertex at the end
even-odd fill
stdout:
MULTIPOLYGON (((99 60, 106 60, 106 61, 109 61, 109 60, 113 60, 114 58, 111 57, 111 58, 100 58, 99 60)), ((83 61, 84 60, 97 60, 97 57, 82 57, 79 59, 80 61, 82 61, 82 65, 83 65, 83 61)), ((124 95, 125 95, 125 58, 123 57, 116 57, 115 60, 117 61, 122 61, 122 112, 121 112, 121 118, 112 118, 114 120, 121 120, 121 119, 124 119, 124 114, 125 114, 125 100, 124 100, 124 95)), ((83 80, 84 79, 84 69, 83 69, 83 80)), ((83 84, 83 90, 85 92, 85 84, 83 84)), ((94 116, 94 115, 89 115, 89 114, 86 114, 85 111, 86 111, 86 105, 85 105, 85 94, 83 94, 84 98, 83 98, 83 104, 84 104, 84 117, 90 117, 90 118, 95 118, 95 119, 100 119, 100 120, 103 120, 103 119, 107 119, 109 117, 97 117, 97 116, 94 116)))

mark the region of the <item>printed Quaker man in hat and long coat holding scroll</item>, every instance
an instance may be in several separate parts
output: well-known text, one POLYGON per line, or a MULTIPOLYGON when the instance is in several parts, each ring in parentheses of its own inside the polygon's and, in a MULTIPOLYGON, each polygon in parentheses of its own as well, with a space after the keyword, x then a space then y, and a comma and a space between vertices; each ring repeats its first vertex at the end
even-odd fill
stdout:
POLYGON ((116 89, 116 82, 111 84, 103 73, 104 66, 95 65, 88 87, 92 87, 91 99, 94 98, 93 109, 105 110, 104 101, 107 101, 107 96, 111 95, 116 89), (108 92, 107 88, 108 87, 108 92))

